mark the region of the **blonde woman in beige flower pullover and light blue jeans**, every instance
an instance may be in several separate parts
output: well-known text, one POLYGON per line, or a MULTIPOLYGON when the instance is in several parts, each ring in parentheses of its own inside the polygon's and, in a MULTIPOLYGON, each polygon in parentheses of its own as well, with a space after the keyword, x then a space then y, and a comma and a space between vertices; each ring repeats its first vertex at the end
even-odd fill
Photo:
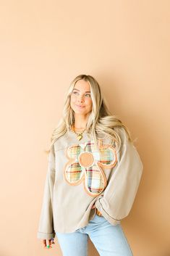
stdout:
POLYGON ((121 220, 132 208, 143 163, 128 128, 111 115, 98 82, 78 75, 51 137, 38 239, 64 256, 132 256, 121 220))

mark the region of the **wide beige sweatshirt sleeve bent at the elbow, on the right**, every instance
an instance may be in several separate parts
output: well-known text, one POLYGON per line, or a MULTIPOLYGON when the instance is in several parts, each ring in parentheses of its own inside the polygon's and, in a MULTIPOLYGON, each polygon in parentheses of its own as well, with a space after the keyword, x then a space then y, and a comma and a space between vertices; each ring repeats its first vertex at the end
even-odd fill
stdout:
POLYGON ((143 162, 135 146, 127 139, 124 128, 120 128, 119 136, 122 143, 112 170, 114 174, 103 195, 95 201, 96 208, 113 225, 129 214, 143 173, 143 162))

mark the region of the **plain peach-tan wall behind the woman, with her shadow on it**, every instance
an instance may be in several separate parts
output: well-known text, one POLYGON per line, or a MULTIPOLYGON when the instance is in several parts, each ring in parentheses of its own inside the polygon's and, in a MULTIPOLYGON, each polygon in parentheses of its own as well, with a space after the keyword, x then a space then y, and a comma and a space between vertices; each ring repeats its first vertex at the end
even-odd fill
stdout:
MULTIPOLYGON (((122 220, 135 256, 170 255, 169 1, 1 1, 0 256, 61 255, 36 238, 47 159, 69 82, 101 84, 143 178, 122 220)), ((93 244, 90 256, 98 255, 93 244)))

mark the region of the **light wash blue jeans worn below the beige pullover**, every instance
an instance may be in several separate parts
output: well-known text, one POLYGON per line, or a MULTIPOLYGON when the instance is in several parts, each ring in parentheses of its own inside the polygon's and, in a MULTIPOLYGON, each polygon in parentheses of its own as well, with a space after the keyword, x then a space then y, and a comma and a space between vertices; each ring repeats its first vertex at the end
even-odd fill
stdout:
POLYGON ((87 226, 73 233, 56 232, 63 256, 88 256, 88 237, 100 256, 132 256, 121 224, 113 226, 103 216, 95 215, 87 226))

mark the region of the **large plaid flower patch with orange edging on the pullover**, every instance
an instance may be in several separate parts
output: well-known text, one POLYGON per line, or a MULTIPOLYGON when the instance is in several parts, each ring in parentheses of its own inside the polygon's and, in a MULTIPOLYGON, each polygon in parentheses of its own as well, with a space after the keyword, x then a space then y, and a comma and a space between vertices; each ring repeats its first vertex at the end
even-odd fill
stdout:
POLYGON ((67 149, 69 162, 64 170, 66 181, 70 185, 77 185, 84 180, 85 191, 92 197, 101 194, 106 188, 107 182, 103 169, 114 167, 117 161, 113 147, 100 143, 99 149, 100 152, 95 148, 94 141, 75 144, 67 149), (88 164, 88 161, 92 162, 88 164))

